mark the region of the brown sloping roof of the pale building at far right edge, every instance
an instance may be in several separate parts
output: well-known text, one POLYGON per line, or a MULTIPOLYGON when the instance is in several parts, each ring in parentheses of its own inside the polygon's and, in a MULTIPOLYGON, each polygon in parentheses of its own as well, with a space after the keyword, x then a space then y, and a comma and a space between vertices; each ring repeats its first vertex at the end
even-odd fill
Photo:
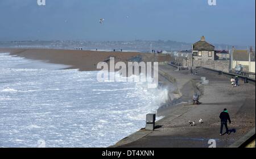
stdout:
MULTIPOLYGON (((255 52, 250 53, 251 61, 255 61, 255 52)), ((249 61, 249 53, 247 50, 233 50, 234 61, 249 61)))

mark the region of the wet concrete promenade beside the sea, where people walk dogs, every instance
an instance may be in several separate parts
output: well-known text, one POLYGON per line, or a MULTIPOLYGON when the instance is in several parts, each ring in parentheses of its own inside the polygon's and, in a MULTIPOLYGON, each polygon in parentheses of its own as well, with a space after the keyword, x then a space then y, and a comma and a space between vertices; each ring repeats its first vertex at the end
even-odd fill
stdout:
POLYGON ((229 147, 255 127, 255 85, 240 81, 239 87, 232 87, 228 77, 203 68, 191 75, 189 70, 176 71, 170 65, 159 65, 159 74, 161 81, 172 82, 175 87, 166 106, 158 110, 157 115, 165 118, 156 122, 155 131, 141 129, 113 147, 207 148, 209 139, 216 140, 217 147, 229 147), (209 84, 201 85, 201 77, 206 77, 209 84), (191 104, 194 93, 200 93, 200 105, 191 104), (218 116, 224 108, 232 120, 228 124, 232 133, 220 136, 218 116), (203 124, 199 123, 200 118, 203 124), (190 126, 189 120, 195 120, 196 125, 190 126))

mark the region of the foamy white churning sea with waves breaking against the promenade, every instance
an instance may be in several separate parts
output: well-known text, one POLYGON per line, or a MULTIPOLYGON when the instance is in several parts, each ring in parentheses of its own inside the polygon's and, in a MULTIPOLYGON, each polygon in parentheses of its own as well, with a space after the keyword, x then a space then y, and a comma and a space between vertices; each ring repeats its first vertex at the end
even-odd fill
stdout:
POLYGON ((35 147, 40 139, 46 147, 108 147, 167 100, 166 89, 147 83, 97 82, 97 72, 28 62, 0 53, 0 147, 35 147))

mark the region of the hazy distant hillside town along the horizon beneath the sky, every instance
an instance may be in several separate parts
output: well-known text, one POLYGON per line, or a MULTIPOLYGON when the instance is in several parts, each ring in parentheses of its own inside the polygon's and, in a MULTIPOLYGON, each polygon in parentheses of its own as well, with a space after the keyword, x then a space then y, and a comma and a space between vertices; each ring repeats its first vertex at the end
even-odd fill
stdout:
MULTIPOLYGON (((200 37, 200 36, 199 36, 200 37)), ((195 38, 196 39, 196 38, 195 38)), ((0 41, 0 48, 52 48, 52 49, 76 49, 95 50, 98 51, 135 51, 135 52, 151 52, 162 51, 179 52, 191 50, 191 43, 184 43, 174 40, 133 40, 133 41, 89 41, 89 40, 31 40, 31 41, 0 41)), ((233 45, 213 44, 218 50, 228 50, 233 45)), ((237 46, 237 49, 246 49, 248 46, 237 46)))

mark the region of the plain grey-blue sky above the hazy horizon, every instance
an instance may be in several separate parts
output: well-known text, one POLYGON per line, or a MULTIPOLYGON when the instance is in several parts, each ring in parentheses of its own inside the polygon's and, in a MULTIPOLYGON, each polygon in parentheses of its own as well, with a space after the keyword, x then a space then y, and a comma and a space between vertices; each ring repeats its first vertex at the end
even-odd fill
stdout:
POLYGON ((255 46, 255 0, 0 0, 0 41, 175 40, 255 46), (104 23, 99 20, 104 18, 104 23))

